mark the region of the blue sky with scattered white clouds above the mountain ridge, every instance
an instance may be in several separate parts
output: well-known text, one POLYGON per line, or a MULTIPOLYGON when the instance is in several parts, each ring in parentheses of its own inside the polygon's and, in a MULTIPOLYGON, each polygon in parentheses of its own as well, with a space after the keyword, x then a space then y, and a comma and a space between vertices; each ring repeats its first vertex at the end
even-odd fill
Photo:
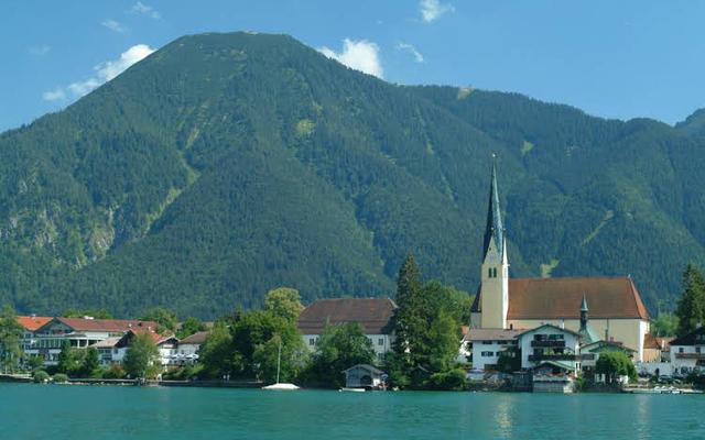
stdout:
POLYGON ((0 131, 200 32, 286 33, 398 84, 518 91, 674 123, 705 107, 704 1, 8 1, 0 131))

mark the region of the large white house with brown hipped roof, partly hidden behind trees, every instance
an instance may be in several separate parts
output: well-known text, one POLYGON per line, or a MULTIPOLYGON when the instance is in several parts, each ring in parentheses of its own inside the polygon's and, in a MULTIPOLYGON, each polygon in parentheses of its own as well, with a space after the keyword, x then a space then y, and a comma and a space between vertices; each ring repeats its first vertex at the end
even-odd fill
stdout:
POLYGON ((304 344, 314 351, 326 324, 359 323, 372 342, 379 361, 392 350, 392 317, 397 305, 390 298, 318 299, 299 316, 299 330, 304 344))

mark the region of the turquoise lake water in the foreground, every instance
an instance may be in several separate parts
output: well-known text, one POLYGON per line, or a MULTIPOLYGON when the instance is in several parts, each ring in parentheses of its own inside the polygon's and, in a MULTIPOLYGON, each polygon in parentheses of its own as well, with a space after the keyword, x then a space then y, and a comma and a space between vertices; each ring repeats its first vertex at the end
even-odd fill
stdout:
POLYGON ((0 384, 0 439, 705 439, 705 395, 0 384))

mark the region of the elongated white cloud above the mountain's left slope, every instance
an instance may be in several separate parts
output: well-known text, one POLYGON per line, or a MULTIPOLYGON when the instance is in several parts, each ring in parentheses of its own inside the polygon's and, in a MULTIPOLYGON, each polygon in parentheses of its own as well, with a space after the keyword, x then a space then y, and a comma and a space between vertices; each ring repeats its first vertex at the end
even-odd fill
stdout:
POLYGON ((137 44, 120 54, 118 59, 100 63, 94 67, 95 74, 88 79, 72 82, 64 88, 59 87, 55 90, 45 91, 42 95, 42 98, 47 101, 63 100, 66 99, 68 94, 74 98, 80 98, 84 95, 88 95, 93 89, 99 87, 101 84, 117 77, 134 63, 149 56, 152 52, 154 52, 154 50, 147 44, 137 44))

